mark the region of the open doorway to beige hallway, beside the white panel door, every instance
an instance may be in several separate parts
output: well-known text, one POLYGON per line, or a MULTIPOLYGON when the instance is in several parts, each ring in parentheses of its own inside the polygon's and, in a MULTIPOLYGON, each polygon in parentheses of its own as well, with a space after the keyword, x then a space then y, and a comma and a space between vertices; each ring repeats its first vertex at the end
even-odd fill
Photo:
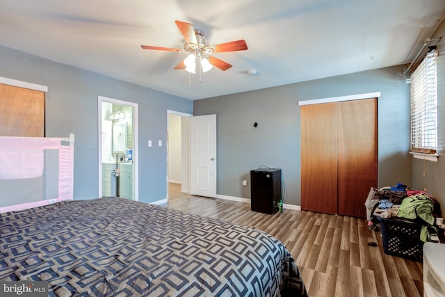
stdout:
POLYGON ((188 113, 167 111, 167 198, 170 202, 189 193, 191 116, 188 113))

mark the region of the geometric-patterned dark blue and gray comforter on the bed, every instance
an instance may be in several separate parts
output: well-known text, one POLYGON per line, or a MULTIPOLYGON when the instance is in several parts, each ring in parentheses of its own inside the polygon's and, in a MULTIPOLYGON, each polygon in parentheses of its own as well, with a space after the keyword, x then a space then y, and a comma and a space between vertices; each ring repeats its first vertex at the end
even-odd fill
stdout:
POLYGON ((0 214, 0 280, 49 296, 303 296, 295 261, 252 227, 123 198, 0 214))

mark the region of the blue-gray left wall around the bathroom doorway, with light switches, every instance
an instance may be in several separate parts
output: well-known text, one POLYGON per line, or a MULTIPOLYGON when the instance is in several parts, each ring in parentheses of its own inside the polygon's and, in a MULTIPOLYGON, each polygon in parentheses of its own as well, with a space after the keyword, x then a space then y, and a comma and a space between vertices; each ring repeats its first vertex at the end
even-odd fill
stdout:
POLYGON ((98 193, 97 96, 138 104, 139 200, 153 202, 166 198, 166 147, 147 147, 147 141, 166 143, 167 110, 193 113, 191 100, 1 46, 0 64, 0 77, 49 88, 45 106, 46 136, 75 134, 75 199, 96 198, 98 193))

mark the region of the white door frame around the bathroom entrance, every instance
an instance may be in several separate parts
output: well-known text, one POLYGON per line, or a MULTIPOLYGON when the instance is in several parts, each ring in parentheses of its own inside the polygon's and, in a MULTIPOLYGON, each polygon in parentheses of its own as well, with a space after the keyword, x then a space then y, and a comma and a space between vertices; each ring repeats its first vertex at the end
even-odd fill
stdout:
POLYGON ((134 102, 128 102, 119 99, 113 99, 109 97, 97 96, 97 155, 98 155, 98 168, 99 168, 99 180, 98 180, 98 192, 97 197, 102 197, 102 102, 108 102, 111 104, 121 104, 133 107, 133 200, 139 200, 139 158, 138 158, 138 104, 134 102))

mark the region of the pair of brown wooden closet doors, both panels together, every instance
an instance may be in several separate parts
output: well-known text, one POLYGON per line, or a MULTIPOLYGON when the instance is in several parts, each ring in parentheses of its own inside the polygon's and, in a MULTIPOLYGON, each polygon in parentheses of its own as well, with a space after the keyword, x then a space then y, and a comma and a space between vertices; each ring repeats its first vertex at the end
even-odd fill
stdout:
POLYGON ((377 187, 377 99, 300 107, 301 208, 364 217, 377 187))

